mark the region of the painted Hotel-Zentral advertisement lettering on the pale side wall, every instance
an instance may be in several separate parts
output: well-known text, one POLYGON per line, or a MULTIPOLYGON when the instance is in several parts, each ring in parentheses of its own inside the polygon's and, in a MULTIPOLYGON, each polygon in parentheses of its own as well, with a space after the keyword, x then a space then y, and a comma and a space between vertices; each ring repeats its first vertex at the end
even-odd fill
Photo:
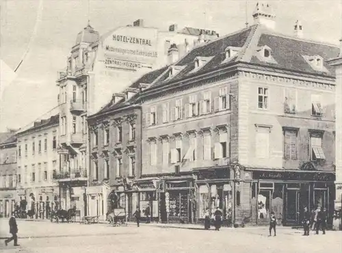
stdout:
POLYGON ((103 40, 103 63, 107 69, 138 71, 153 67, 158 57, 157 30, 121 27, 103 40))

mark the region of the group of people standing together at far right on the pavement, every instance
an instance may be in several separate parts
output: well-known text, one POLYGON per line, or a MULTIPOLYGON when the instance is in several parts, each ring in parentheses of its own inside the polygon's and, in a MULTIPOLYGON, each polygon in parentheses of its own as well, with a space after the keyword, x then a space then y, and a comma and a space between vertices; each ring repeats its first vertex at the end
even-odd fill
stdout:
POLYGON ((326 208, 317 207, 310 213, 308 208, 304 207, 304 235, 309 235, 310 228, 316 231, 316 235, 319 234, 319 229, 323 231, 323 235, 326 235, 326 219, 326 208))

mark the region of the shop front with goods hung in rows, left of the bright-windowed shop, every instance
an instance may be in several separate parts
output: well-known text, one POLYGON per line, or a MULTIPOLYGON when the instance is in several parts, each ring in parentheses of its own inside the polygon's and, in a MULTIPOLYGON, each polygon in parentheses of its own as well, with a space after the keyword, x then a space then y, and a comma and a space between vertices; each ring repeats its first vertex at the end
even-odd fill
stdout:
POLYGON ((163 184, 164 190, 159 191, 161 222, 193 223, 196 211, 194 177, 164 178, 163 184))

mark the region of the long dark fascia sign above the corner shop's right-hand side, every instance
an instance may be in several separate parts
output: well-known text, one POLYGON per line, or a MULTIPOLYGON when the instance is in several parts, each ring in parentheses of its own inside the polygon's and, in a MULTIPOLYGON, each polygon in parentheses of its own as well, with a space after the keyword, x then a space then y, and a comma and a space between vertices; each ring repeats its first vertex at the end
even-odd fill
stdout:
POLYGON ((267 172, 254 171, 254 179, 274 179, 293 181, 334 181, 335 175, 326 172, 267 172))

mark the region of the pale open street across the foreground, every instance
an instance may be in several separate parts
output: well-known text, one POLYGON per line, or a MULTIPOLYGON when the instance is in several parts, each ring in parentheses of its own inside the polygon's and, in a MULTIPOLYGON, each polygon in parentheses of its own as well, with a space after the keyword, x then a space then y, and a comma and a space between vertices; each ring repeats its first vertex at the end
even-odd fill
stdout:
MULTIPOLYGON (((1 219, 1 238, 8 236, 8 220, 1 219)), ((301 230, 278 228, 268 237, 266 227, 202 230, 193 225, 133 224, 111 227, 108 224, 55 224, 18 221, 19 244, 12 242, 1 252, 341 252, 341 232, 303 237, 301 230)))

